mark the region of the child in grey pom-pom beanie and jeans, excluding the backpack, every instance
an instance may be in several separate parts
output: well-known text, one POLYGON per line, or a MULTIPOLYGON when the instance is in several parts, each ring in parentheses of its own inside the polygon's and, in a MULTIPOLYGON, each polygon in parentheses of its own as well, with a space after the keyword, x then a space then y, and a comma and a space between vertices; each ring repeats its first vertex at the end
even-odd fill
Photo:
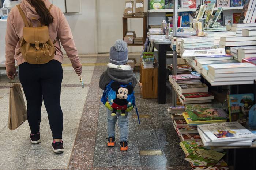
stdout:
MULTIPOLYGON (((127 43, 123 40, 117 40, 113 47, 110 48, 109 54, 110 64, 105 72, 102 73, 99 80, 99 87, 106 90, 106 86, 113 80, 120 84, 131 83, 133 88, 137 84, 137 79, 133 74, 133 69, 126 66, 128 61, 127 43)), ((113 84, 113 83, 112 83, 113 84)), ((108 113, 108 146, 115 145, 115 126, 118 119, 120 127, 120 150, 128 150, 128 114, 115 114, 107 108, 108 113)), ((123 111, 122 111, 123 113, 123 111)))

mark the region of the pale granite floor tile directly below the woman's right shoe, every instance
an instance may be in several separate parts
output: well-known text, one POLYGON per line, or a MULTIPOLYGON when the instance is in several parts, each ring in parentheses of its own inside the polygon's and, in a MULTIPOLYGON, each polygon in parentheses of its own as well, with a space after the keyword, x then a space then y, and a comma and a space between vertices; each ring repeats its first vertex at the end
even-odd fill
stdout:
POLYGON ((65 148, 64 153, 55 154, 52 149, 30 149, 18 169, 66 169, 71 151, 65 148))

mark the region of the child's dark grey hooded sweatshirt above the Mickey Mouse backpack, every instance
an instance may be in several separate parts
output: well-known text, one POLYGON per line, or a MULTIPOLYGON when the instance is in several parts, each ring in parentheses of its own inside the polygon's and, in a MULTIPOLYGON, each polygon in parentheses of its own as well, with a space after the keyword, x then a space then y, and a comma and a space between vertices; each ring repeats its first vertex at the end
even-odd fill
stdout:
POLYGON ((137 79, 135 78, 132 69, 118 70, 114 68, 107 68, 107 70, 102 73, 101 78, 99 79, 99 87, 102 90, 105 90, 106 86, 109 84, 109 82, 111 82, 111 80, 121 84, 128 84, 131 82, 133 88, 137 84, 137 79))

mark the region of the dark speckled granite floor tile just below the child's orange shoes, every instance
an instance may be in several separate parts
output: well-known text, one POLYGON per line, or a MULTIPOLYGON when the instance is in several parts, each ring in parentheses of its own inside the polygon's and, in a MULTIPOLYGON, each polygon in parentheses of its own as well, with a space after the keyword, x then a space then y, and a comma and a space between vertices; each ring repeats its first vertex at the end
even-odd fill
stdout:
POLYGON ((113 165, 141 166, 138 147, 129 145, 129 150, 126 152, 120 151, 120 147, 95 147, 93 167, 112 167, 113 165))

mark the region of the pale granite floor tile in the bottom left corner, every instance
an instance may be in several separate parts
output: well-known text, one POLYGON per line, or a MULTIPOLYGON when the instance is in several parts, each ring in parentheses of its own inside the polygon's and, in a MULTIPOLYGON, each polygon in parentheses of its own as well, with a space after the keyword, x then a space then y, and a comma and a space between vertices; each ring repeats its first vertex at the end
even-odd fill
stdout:
POLYGON ((28 150, 1 150, 0 169, 18 169, 28 150))

